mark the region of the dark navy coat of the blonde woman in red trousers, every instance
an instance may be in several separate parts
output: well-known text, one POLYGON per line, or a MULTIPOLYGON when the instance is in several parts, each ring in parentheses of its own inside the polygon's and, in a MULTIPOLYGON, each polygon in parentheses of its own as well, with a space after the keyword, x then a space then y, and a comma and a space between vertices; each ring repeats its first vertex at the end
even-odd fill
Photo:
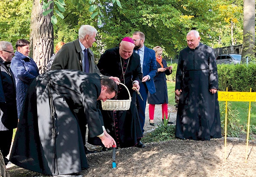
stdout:
MULTIPOLYGON (((163 67, 167 67, 166 60, 162 59, 163 67)), ((157 69, 162 66, 157 62, 157 69)), ((148 104, 159 105, 163 103, 168 103, 168 91, 167 91, 167 83, 166 83, 166 75, 172 74, 169 69, 166 69, 164 72, 157 72, 154 77, 154 84, 156 87, 156 92, 154 94, 150 94, 148 92, 148 104)))

